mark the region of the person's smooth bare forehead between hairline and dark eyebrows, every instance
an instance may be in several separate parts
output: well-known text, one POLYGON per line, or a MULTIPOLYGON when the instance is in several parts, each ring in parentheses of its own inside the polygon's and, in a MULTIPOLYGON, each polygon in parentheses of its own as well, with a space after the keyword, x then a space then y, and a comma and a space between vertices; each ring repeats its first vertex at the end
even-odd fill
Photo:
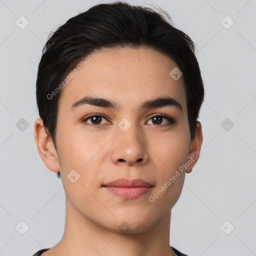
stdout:
POLYGON ((154 49, 100 49, 69 73, 75 75, 62 88, 59 109, 69 110, 73 102, 86 95, 104 96, 123 107, 134 108, 141 101, 165 95, 176 99, 185 109, 183 77, 173 79, 173 68, 177 64, 154 49))

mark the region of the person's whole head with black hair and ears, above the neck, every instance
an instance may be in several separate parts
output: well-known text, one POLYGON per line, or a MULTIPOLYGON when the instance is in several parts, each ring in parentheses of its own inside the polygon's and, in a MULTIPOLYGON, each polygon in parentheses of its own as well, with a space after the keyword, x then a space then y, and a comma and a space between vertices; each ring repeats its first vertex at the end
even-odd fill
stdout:
POLYGON ((145 203, 150 223, 167 214, 199 157, 204 89, 194 44, 162 13, 167 18, 124 2, 97 4, 51 34, 38 66, 38 152, 61 174, 70 205, 113 229, 123 220, 133 231, 146 228, 131 214, 145 203), (103 190, 121 177, 152 189, 136 199, 103 190))

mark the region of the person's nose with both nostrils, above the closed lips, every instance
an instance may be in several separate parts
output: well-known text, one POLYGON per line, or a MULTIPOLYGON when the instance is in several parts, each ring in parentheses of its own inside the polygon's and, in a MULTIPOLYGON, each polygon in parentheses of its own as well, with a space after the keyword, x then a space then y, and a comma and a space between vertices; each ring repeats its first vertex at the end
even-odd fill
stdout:
POLYGON ((115 164, 128 166, 145 164, 148 161, 148 148, 144 135, 135 124, 123 131, 117 127, 111 144, 111 160, 115 164))

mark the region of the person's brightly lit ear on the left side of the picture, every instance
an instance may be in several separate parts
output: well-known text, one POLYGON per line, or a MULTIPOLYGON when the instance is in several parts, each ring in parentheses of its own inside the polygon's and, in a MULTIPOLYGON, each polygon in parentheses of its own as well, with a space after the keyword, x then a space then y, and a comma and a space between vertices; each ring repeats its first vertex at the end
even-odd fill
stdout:
POLYGON ((48 137, 45 132, 43 120, 41 118, 37 118, 34 122, 34 140, 38 153, 46 167, 51 171, 58 172, 58 155, 51 137, 48 137))

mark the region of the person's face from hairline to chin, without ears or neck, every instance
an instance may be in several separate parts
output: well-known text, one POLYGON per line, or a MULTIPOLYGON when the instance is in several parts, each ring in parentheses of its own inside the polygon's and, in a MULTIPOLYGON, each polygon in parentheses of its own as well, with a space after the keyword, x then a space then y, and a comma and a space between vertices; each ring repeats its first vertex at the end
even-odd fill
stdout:
POLYGON ((194 153, 184 80, 169 75, 174 67, 156 50, 125 47, 101 49, 76 68, 62 88, 56 126, 70 212, 116 232, 125 224, 129 232, 146 230, 170 213, 185 171, 170 178, 194 153), (74 104, 86 96, 115 102, 115 107, 102 100, 74 104), (145 101, 152 102, 141 107, 145 101), (119 178, 139 178, 150 187, 103 186, 119 178))

